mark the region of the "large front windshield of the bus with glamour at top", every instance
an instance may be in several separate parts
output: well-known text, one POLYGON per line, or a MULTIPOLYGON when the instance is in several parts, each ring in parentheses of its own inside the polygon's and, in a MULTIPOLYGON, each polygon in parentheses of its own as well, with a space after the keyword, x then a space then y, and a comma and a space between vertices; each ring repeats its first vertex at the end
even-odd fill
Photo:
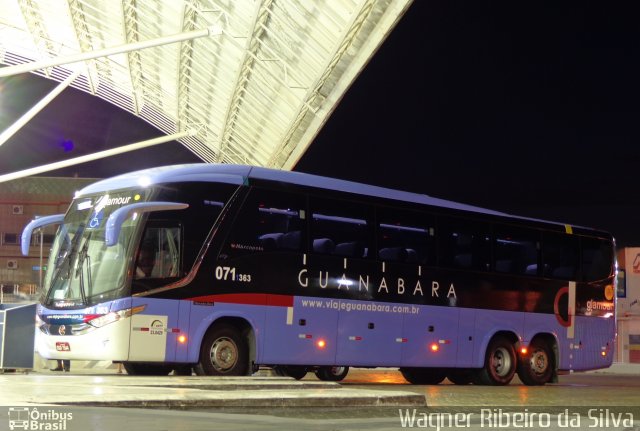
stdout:
POLYGON ((111 247, 105 244, 105 226, 118 208, 143 201, 131 191, 74 200, 49 255, 43 304, 81 308, 128 293, 125 257, 141 217, 134 215, 125 221, 118 242, 111 247))

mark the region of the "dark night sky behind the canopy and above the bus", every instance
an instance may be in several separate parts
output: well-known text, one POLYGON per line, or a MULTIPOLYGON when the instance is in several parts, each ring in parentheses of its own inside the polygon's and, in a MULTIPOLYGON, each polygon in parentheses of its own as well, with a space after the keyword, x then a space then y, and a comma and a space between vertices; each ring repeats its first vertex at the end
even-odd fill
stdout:
MULTIPOLYGON (((610 2, 415 0, 295 170, 603 228, 640 246, 637 16, 610 2)), ((55 83, 1 85, 6 127, 12 100, 33 104, 55 83)), ((0 147, 0 173, 159 136, 77 90, 54 104, 65 109, 47 108, 0 147)), ((48 175, 195 160, 170 143, 48 175)))

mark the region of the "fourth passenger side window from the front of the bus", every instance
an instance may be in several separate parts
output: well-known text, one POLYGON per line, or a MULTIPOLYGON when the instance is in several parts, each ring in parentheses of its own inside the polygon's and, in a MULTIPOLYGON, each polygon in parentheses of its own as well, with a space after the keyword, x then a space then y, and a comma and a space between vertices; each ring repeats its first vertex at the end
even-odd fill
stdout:
POLYGON ((488 225, 465 220, 440 219, 437 236, 442 266, 489 270, 491 241, 488 225))

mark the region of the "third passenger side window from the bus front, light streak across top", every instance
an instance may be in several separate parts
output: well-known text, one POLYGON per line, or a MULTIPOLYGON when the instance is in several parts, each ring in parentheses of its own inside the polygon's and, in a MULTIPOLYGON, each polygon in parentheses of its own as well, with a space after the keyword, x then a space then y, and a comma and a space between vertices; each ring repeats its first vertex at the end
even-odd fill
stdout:
POLYGON ((435 263, 433 217, 392 208, 378 210, 378 258, 390 262, 435 263))

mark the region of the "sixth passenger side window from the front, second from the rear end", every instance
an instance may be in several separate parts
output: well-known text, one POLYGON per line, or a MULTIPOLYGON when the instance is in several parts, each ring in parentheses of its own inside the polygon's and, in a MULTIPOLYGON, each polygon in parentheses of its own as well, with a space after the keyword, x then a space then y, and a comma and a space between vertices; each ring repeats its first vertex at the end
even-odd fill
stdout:
POLYGON ((542 236, 544 276, 575 280, 578 276, 579 238, 575 235, 545 232, 542 236))

